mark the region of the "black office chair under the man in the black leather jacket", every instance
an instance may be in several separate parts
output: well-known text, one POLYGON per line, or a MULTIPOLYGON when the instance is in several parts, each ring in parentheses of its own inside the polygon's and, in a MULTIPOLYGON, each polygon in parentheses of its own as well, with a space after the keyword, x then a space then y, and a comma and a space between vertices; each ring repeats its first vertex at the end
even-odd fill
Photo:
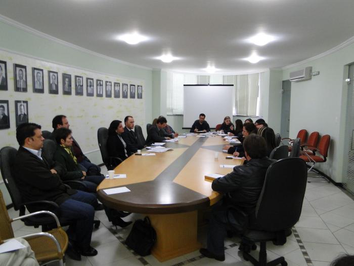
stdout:
MULTIPOLYGON (((243 250, 245 260, 253 265, 286 266, 284 257, 267 263, 267 241, 278 245, 286 243, 291 227, 298 221, 305 195, 306 164, 300 158, 287 158, 273 163, 267 170, 256 206, 256 220, 242 236, 243 243, 260 242, 259 261, 243 250)), ((242 248, 241 248, 242 249, 242 248)))

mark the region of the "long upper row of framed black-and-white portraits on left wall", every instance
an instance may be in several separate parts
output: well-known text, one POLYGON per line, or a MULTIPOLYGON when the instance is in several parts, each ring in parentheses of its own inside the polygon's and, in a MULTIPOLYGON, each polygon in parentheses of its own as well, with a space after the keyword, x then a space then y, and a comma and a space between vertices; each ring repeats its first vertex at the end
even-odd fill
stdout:
MULTIPOLYGON (((0 90, 8 90, 7 77, 7 62, 0 60, 0 90)), ((71 74, 62 73, 63 80, 63 95, 72 94, 71 74)), ((14 64, 14 86, 16 92, 27 92, 27 67, 25 65, 14 64)), ((59 94, 59 73, 48 70, 48 88, 49 94, 59 94)), ((43 69, 32 67, 32 83, 34 93, 45 93, 45 83, 43 77, 43 69)), ((96 97, 103 97, 105 91, 106 98, 125 98, 143 99, 143 86, 122 83, 122 88, 119 82, 106 81, 105 90, 103 90, 103 80, 96 80, 96 97), (120 91, 122 91, 120 93, 120 91)), ((83 77, 75 75, 75 95, 83 96, 83 77)), ((95 96, 94 79, 86 78, 86 96, 95 96)))

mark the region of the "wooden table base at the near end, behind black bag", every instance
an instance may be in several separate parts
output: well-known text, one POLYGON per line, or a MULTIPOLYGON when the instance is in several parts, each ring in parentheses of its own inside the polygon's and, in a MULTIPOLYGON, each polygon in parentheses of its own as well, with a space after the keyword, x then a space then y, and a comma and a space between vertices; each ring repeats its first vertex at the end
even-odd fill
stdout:
POLYGON ((151 253, 159 261, 201 248, 197 240, 198 211, 176 214, 149 214, 157 241, 151 253))

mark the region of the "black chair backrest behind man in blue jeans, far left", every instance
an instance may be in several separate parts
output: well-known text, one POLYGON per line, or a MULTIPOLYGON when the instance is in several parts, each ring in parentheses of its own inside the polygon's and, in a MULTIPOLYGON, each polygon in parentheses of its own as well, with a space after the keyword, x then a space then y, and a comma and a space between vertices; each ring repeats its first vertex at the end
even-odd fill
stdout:
POLYGON ((4 178, 4 183, 10 194, 14 209, 19 210, 22 204, 22 198, 19 189, 17 188, 16 181, 12 174, 13 165, 15 162, 17 150, 13 147, 3 147, 0 150, 0 170, 4 178))

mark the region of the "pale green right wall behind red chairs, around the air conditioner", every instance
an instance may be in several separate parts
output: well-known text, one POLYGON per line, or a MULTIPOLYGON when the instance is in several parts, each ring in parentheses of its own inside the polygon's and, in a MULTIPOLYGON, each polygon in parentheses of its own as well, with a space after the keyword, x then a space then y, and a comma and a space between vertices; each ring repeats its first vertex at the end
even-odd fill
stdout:
POLYGON ((318 164, 324 173, 336 182, 343 180, 344 127, 346 111, 348 75, 347 64, 354 61, 354 44, 350 44, 332 54, 311 60, 301 65, 283 70, 283 80, 289 73, 306 66, 320 75, 311 80, 291 83, 290 137, 304 128, 308 132, 319 131, 320 135, 329 134, 331 144, 328 161, 318 164))

